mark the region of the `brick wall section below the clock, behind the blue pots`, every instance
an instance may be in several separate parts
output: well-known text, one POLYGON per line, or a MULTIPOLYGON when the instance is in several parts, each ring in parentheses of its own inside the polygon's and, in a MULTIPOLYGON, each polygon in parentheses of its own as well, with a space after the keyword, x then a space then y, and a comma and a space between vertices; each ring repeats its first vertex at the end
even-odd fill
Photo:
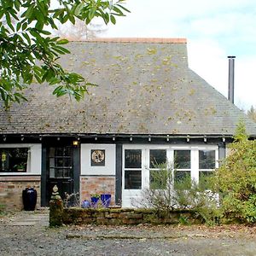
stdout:
POLYGON ((111 205, 115 204, 115 177, 113 176, 83 176, 80 177, 81 201, 90 201, 91 194, 110 194, 111 205))

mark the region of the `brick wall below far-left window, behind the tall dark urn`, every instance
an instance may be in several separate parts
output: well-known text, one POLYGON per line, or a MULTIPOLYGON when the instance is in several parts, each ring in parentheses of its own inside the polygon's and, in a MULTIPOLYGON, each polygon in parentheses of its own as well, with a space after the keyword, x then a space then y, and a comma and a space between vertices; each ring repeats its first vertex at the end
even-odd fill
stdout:
POLYGON ((36 208, 41 206, 40 176, 2 176, 0 177, 0 204, 9 211, 22 210, 22 190, 32 187, 38 192, 36 208))

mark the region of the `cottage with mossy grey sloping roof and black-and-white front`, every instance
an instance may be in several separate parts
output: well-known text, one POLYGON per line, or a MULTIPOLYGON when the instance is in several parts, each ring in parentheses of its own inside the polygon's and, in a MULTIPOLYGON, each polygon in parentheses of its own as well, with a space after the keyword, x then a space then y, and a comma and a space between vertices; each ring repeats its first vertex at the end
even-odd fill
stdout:
POLYGON ((256 137, 255 123, 189 69, 186 39, 97 38, 68 48, 62 65, 98 86, 75 102, 32 84, 28 102, 2 108, 0 203, 8 207, 22 207, 26 186, 47 206, 55 184, 62 197, 105 192, 131 207, 153 162, 175 161, 177 177, 198 181, 225 157, 240 119, 256 137))

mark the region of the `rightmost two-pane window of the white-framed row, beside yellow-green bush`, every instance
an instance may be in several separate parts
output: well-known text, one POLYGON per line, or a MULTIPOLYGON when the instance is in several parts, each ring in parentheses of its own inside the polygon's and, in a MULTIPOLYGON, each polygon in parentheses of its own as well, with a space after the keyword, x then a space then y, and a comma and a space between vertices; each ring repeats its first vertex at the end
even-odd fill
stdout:
POLYGON ((199 150, 199 183, 205 189, 208 188, 207 177, 216 168, 215 154, 215 150, 199 150))

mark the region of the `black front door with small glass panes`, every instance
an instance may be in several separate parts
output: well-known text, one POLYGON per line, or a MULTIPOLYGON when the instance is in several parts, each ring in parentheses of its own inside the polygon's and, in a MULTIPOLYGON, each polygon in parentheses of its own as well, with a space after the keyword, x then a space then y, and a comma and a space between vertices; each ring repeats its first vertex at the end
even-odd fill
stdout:
POLYGON ((46 169, 46 201, 49 203, 52 189, 57 185, 62 200, 66 193, 73 193, 73 147, 51 147, 48 149, 46 169))

